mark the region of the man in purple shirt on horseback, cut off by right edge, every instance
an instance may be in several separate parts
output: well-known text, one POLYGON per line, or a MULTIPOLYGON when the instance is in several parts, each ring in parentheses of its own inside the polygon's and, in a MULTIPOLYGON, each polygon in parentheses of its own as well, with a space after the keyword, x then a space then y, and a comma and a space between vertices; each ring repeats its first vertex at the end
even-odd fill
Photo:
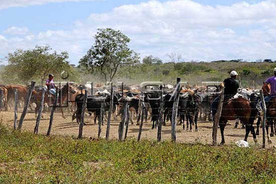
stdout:
POLYGON ((264 102, 267 106, 267 104, 273 99, 276 98, 276 68, 274 68, 274 76, 269 77, 265 80, 262 86, 262 90, 264 94, 267 96, 264 98, 264 102), (270 85, 270 90, 269 86, 270 85))

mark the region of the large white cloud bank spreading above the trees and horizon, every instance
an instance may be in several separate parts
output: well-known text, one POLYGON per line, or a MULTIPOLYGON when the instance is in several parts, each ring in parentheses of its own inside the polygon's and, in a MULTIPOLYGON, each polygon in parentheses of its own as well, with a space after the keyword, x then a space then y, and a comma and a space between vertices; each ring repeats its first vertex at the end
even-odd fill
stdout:
POLYGON ((0 42, 6 44, 0 44, 0 55, 50 44, 55 50, 68 51, 76 64, 91 47, 96 29, 110 27, 131 38, 130 47, 142 57, 152 54, 166 59, 167 53, 176 52, 185 60, 276 59, 275 12, 276 1, 215 7, 190 0, 124 5, 76 21, 71 30, 45 30, 4 37, 5 41, 0 35, 0 42))

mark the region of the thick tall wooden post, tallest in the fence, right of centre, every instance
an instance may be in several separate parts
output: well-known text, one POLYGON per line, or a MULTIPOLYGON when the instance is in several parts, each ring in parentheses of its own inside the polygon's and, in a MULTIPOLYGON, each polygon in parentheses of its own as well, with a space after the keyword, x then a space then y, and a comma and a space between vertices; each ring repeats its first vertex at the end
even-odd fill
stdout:
POLYGON ((174 98, 173 112, 172 112, 172 141, 176 141, 176 122, 177 122, 177 110, 179 102, 180 84, 176 86, 176 94, 174 98))

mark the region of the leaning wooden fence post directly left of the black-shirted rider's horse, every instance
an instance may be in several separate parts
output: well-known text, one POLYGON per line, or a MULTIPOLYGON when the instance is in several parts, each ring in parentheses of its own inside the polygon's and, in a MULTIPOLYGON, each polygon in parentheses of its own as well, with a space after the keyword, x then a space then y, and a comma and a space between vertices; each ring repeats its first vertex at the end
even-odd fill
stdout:
POLYGON ((217 113, 215 115, 214 124, 213 124, 212 137, 213 137, 213 145, 214 146, 217 145, 217 130, 218 130, 218 123, 219 123, 221 112, 222 112, 223 101, 224 101, 224 86, 222 87, 222 90, 221 90, 218 109, 217 109, 217 113))

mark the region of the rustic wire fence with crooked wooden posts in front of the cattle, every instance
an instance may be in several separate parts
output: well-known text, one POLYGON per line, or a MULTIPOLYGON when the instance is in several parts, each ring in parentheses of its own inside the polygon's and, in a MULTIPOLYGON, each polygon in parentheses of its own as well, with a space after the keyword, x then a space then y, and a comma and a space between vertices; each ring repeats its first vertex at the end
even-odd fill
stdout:
MULTIPOLYGON (((202 82, 202 83, 203 84, 205 83, 206 86, 207 86, 206 94, 205 95, 207 95, 207 96, 210 95, 212 97, 213 96, 221 95, 221 91, 220 92, 208 91, 208 90, 210 90, 208 88, 208 86, 211 86, 212 84, 219 85, 221 82, 217 81, 217 82, 202 82)), ((142 116, 141 116, 142 118, 141 118, 141 123, 140 123, 140 127, 139 127, 140 131, 139 131, 138 138, 137 138, 138 141, 140 141, 140 138, 141 138, 142 129, 143 129, 143 122, 144 122, 144 115, 146 114, 146 112, 145 112, 145 110, 146 110, 145 103, 149 102, 145 98, 146 98, 146 95, 150 94, 150 93, 159 93, 160 96, 162 97, 162 98, 159 99, 159 101, 157 101, 157 103, 160 105, 160 107, 158 107, 158 108, 152 108, 152 111, 155 110, 155 109, 159 110, 158 114, 153 114, 152 115, 152 116, 156 116, 156 119, 158 120, 158 125, 159 125, 158 126, 158 132, 157 132, 158 133, 157 134, 158 141, 161 141, 161 135, 162 135, 162 126, 161 125, 163 124, 163 121, 164 121, 164 111, 165 111, 165 109, 167 109, 169 111, 169 113, 167 114, 167 116, 172 116, 172 123, 171 123, 171 131, 172 131, 171 134, 172 134, 172 136, 171 137, 172 137, 173 141, 176 141, 176 128, 175 127, 176 127, 177 121, 178 121, 177 118, 181 114, 180 112, 178 112, 179 111, 178 104, 179 103, 181 104, 181 101, 187 101, 187 100, 185 100, 185 99, 183 99, 181 97, 177 97, 177 96, 180 95, 180 86, 182 84, 183 83, 180 83, 180 81, 178 81, 177 86, 175 86, 175 90, 171 91, 172 97, 174 97, 174 98, 170 99, 170 100, 165 100, 163 98, 164 96, 168 95, 167 91, 165 91, 165 89, 163 88, 163 84, 157 84, 157 85, 160 86, 157 90, 153 90, 153 91, 141 91, 140 99, 139 99, 141 106, 139 107, 140 108, 139 109, 139 113, 142 114, 142 116), (168 102, 174 102, 173 107, 171 107, 171 108, 166 107, 165 104, 168 103, 168 102)), ((54 116, 55 109, 56 108, 68 108, 68 106, 69 106, 70 103, 75 103, 74 100, 72 100, 72 99, 69 98, 70 91, 69 91, 68 82, 67 82, 67 86, 68 86, 68 88, 67 88, 66 94, 67 94, 68 98, 67 98, 67 101, 65 103, 66 105, 64 105, 63 102, 61 102, 61 100, 58 101, 58 99, 56 99, 53 102, 53 103, 57 103, 57 105, 53 105, 52 106, 52 112, 51 112, 51 118, 50 118, 51 120, 49 122, 49 129, 48 129, 47 135, 50 135, 50 133, 51 133, 51 127, 52 127, 52 124, 53 124, 53 116, 54 116)), ((59 84, 59 88, 56 89, 57 93, 60 93, 61 88, 62 88, 62 84, 60 83, 59 84)), ((24 106, 24 110, 23 110, 23 113, 22 113, 23 115, 24 114, 26 115, 26 112, 27 112, 27 110, 25 110, 26 109, 25 107, 27 107, 27 109, 28 109, 28 106, 29 106, 29 103, 28 103, 28 101, 30 102, 30 100, 28 100, 28 99, 30 99, 30 95, 29 94, 32 95, 32 93, 30 92, 30 90, 32 90, 32 86, 30 86, 28 96, 26 97, 26 101, 25 102, 27 102, 27 103, 24 106)), ((113 91, 112 83, 111 83, 111 91, 113 91)), ((123 83, 121 84, 121 90, 118 90, 118 92, 120 93, 120 91, 121 91, 121 95, 123 95, 124 94, 123 83)), ((266 106, 265 106, 265 103, 264 103, 264 100, 263 100, 262 90, 260 90, 260 91, 261 91, 260 100, 261 100, 261 102, 263 101, 262 102, 262 107, 263 107, 262 108, 263 109, 263 118, 262 118, 262 130, 263 130, 263 133, 262 134, 263 134, 263 139, 265 139, 265 137, 264 137, 265 136, 265 130, 264 130, 264 128, 265 128, 265 118, 266 118, 266 116, 265 116, 265 114, 266 114, 266 106)), ((81 94, 85 95, 85 93, 86 93, 86 90, 84 90, 84 93, 81 93, 81 94)), ((91 87, 91 94, 93 94, 93 83, 92 83, 92 87, 91 87)), ((2 89, 0 89, 0 96, 1 96, 0 107, 2 108, 3 107, 3 90, 2 89)), ((113 107, 112 107, 112 105, 113 105, 113 96, 114 96, 114 94, 111 92, 111 95, 110 95, 111 98, 109 99, 108 102, 102 101, 100 107, 93 109, 95 111, 97 111, 97 110, 100 111, 98 138, 101 137, 101 129, 102 129, 101 125, 102 125, 102 121, 103 121, 103 116, 105 114, 105 111, 108 110, 107 130, 106 130, 106 136, 105 136, 105 138, 109 139, 109 130, 110 130, 110 122, 111 122, 110 117, 111 117, 111 112, 112 112, 112 109, 113 109, 113 107), (102 105, 104 103, 109 103, 109 106, 107 108, 104 107, 102 105)), ((61 97, 62 97, 62 95, 60 96, 60 99, 62 99, 61 97)), ((91 98, 91 97, 88 96, 87 99, 89 99, 89 98, 91 98)), ((15 95, 15 99, 18 99, 18 97, 16 97, 16 95, 15 95)), ((119 138, 118 139, 120 141, 127 138, 128 122, 129 122, 129 118, 130 118, 129 117, 130 116, 129 115, 129 108, 130 108, 129 107, 129 101, 126 99, 126 97, 125 98, 123 97, 122 99, 123 99, 122 100, 122 104, 123 104, 123 116, 122 116, 122 120, 120 121, 120 124, 119 124, 119 127, 118 127, 118 133, 119 133, 119 138), (125 134, 124 139, 123 139, 123 136, 122 136, 123 135, 123 131, 125 131, 124 132, 124 134, 125 134)), ((227 99, 227 96, 226 96, 226 99, 227 99)), ((196 100, 191 100, 189 102, 190 103, 194 103, 194 104, 198 103, 196 100)), ((200 103, 203 103, 203 102, 211 103, 210 100, 209 100, 209 98, 207 98, 206 101, 202 100, 200 103)), ((37 134, 38 133, 38 128, 39 128, 39 121, 40 121, 40 118, 41 118, 41 113, 43 111, 43 106, 41 106, 41 105, 44 104, 44 99, 41 99, 41 101, 32 101, 32 103, 40 104, 39 113, 38 113, 39 116, 37 118, 37 121, 36 121, 36 124, 35 124, 35 129, 34 129, 34 133, 37 134)), ((93 103, 93 102, 89 102, 89 101, 86 100, 86 106, 88 106, 89 103, 93 103)), ((222 100, 222 103, 223 103, 223 100, 222 100)), ((218 112, 220 111, 219 107, 221 106, 221 103, 219 103, 219 104, 220 105, 218 106, 218 112)), ((17 125, 17 122, 18 122, 18 120, 17 120, 17 109, 18 109, 18 107, 17 106, 18 106, 18 100, 15 103, 14 129, 17 129, 17 128, 21 129, 22 125, 23 125, 24 117, 23 117, 23 120, 20 120, 20 124, 17 125)), ((84 106, 83 108, 85 109, 86 106, 84 106)), ((201 107, 197 107, 197 108, 194 108, 194 109, 190 108, 190 110, 196 111, 199 108, 201 108, 201 107)), ((205 110, 207 110, 207 112, 212 112, 213 111, 213 109, 211 107, 205 108, 205 110)), ((230 111, 230 110, 249 110, 249 109, 244 109, 244 108, 228 108, 228 109, 224 109, 224 110, 230 111)), ((1 109, 0 109, 0 111, 1 111, 1 109)), ((222 109, 221 109, 221 111, 222 111, 222 109)), ((84 112, 84 110, 82 109, 81 112, 84 112)), ((82 117, 82 115, 83 114, 81 113, 81 117, 82 117)), ((218 115, 219 115, 219 113, 217 113, 217 116, 218 115)), ((248 116, 246 116, 246 117, 248 118, 248 116)), ((235 116, 230 116, 230 115, 225 115, 225 114, 221 115, 220 114, 218 116, 218 118, 215 118, 215 121, 214 121, 215 123, 213 124, 213 134, 214 134, 214 131, 217 131, 217 130, 214 130, 214 129, 217 129, 218 121, 219 121, 220 118, 226 118, 226 119, 227 118, 236 118, 236 119, 238 119, 238 118, 246 118, 246 117, 245 116, 236 116, 236 115, 235 116)), ((255 118, 255 117, 249 117, 249 118, 255 118)), ((82 120, 82 123, 81 123, 82 126, 83 126, 83 123, 84 122, 82 120)), ((181 123, 185 124, 184 121, 181 122, 181 123)), ((270 128, 272 128, 271 126, 273 126, 273 125, 269 124, 269 126, 270 126, 270 128)), ((81 138, 81 137, 82 136, 79 136, 79 138, 81 138)), ((214 139, 214 136, 213 136, 213 144, 215 144, 215 145, 217 144, 216 143, 216 139, 214 139)), ((263 147, 264 146, 265 146, 265 143, 263 141, 263 147)))

